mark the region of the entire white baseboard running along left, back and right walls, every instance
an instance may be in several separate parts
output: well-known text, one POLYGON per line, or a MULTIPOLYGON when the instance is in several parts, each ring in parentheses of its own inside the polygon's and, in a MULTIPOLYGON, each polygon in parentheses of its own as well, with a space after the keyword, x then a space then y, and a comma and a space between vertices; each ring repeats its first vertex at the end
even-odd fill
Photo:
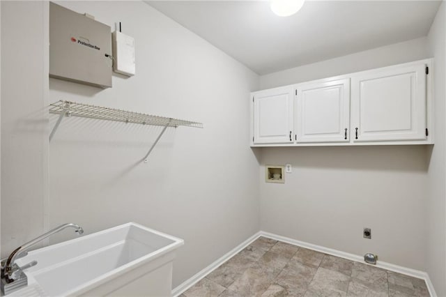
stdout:
MULTIPOLYGON (((249 237, 246 241, 243 241, 243 243, 240 243, 236 248, 233 248, 233 250, 227 252, 224 254, 220 259, 217 259, 217 261, 213 262, 206 268, 204 268, 202 271, 197 273, 196 275, 190 277, 189 280, 186 280, 182 284, 180 284, 178 287, 172 290, 172 296, 177 297, 180 294, 182 294, 184 291, 192 287, 194 284, 199 282, 199 280, 203 279, 203 277, 206 277, 209 273, 213 272, 218 266, 222 265, 224 262, 228 261, 236 255, 238 252, 246 248, 249 244, 251 244, 253 241, 255 241, 260 236, 268 237, 275 239, 276 241, 283 241, 284 243, 290 243, 291 245, 298 245, 302 248, 307 248, 309 250, 315 250, 316 252, 323 252, 324 254, 331 254, 332 256, 348 259, 351 261, 360 262, 362 264, 366 264, 364 262, 364 258, 361 256, 358 256, 357 254, 350 254, 348 252, 341 252, 339 250, 333 250, 331 248, 325 248, 321 245, 314 245, 312 243, 305 243, 304 241, 298 241, 293 238, 280 236, 277 234, 272 234, 265 231, 259 231, 258 233, 254 234, 253 236, 249 237)), ((367 264, 370 265, 370 264, 367 264)), ((421 278, 426 282, 427 289, 429 289, 429 294, 431 294, 431 297, 437 297, 436 291, 433 288, 433 284, 431 282, 431 279, 429 278, 429 275, 425 273, 424 271, 417 271, 412 268, 407 268, 403 266, 398 266, 394 264, 390 264, 383 261, 378 261, 378 264, 372 265, 378 268, 383 268, 387 271, 394 271, 396 273, 401 273, 404 275, 409 275, 417 278, 421 278)))

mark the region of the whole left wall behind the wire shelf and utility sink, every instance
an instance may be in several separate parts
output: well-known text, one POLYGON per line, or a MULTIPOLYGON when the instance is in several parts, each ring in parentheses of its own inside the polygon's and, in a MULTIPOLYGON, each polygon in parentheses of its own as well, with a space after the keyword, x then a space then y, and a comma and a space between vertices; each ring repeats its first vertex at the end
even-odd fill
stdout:
MULTIPOLYGON (((122 22, 136 40, 137 74, 114 75, 106 90, 50 79, 48 100, 45 5, 1 1, 3 255, 64 222, 89 234, 135 221, 185 239, 175 287, 259 231, 246 99, 259 89, 258 75, 141 1, 63 1, 112 28, 122 22), (141 159, 160 127, 69 118, 48 148, 44 107, 60 99, 200 121, 204 129, 169 128, 148 164, 141 159)), ((49 127, 55 121, 49 116, 49 127)), ((52 242, 72 236, 67 230, 52 242)))

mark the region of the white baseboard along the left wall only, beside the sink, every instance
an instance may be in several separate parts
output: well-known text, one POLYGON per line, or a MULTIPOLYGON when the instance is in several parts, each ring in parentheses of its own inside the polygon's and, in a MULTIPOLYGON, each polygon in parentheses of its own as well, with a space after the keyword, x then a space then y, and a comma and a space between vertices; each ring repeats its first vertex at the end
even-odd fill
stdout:
POLYGON ((243 241, 243 243, 240 243, 240 245, 237 245, 236 248, 233 248, 229 252, 226 252, 222 257, 214 261, 212 264, 207 266, 206 268, 203 268, 203 270, 199 271, 196 275, 190 277, 189 280, 186 280, 182 284, 180 284, 178 287, 174 288, 172 290, 172 296, 177 297, 180 296, 180 294, 183 294, 184 291, 192 287, 194 284, 197 284, 201 279, 203 279, 206 275, 213 272, 218 266, 222 265, 224 262, 231 259, 233 256, 238 254, 241 250, 246 248, 248 245, 250 245, 253 241, 255 241, 257 238, 259 238, 261 235, 261 232, 257 232, 253 236, 247 238, 246 241, 243 241))

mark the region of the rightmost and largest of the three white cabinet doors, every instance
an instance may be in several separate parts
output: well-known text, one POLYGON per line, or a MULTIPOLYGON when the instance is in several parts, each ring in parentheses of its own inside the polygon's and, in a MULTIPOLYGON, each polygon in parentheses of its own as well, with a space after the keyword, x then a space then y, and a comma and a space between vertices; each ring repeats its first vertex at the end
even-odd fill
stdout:
POLYGON ((354 142, 426 139, 426 65, 371 70, 351 79, 354 142))

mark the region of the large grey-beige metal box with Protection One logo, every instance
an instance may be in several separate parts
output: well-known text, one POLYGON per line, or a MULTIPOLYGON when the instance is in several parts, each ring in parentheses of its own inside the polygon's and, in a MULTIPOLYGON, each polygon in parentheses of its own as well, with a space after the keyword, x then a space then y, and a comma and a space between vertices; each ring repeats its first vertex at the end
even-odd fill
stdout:
POLYGON ((110 34, 110 26, 50 2, 49 76, 111 87, 110 34))

